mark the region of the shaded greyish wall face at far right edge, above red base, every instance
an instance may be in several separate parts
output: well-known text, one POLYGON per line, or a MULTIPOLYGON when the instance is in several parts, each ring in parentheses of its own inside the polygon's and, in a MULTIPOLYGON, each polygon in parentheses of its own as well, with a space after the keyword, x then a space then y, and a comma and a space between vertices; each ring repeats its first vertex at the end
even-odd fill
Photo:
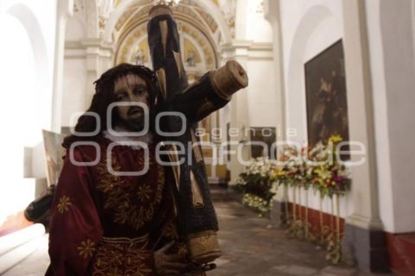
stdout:
POLYGON ((394 232, 415 232, 415 70, 410 1, 381 2, 388 102, 394 232), (399 20, 396 20, 399 18, 399 20))

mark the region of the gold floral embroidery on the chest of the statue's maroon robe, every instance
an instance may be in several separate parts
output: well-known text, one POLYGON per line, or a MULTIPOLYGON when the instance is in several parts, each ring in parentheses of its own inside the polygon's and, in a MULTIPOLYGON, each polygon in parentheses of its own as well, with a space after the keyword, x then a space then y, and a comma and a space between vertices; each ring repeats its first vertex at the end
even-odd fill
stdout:
MULTIPOLYGON (((154 207, 162 200, 165 182, 164 167, 149 160, 149 166, 157 166, 158 170, 157 187, 152 198, 154 192, 150 185, 141 183, 133 185, 125 182, 124 177, 112 175, 107 171, 106 162, 106 157, 104 157, 97 165, 97 189, 105 195, 104 209, 114 212, 114 222, 127 224, 138 230, 145 222, 153 218, 154 207)), ((139 166, 143 165, 143 162, 143 158, 140 158, 139 166)), ((111 157, 111 165, 114 171, 122 171, 115 155, 111 157)))

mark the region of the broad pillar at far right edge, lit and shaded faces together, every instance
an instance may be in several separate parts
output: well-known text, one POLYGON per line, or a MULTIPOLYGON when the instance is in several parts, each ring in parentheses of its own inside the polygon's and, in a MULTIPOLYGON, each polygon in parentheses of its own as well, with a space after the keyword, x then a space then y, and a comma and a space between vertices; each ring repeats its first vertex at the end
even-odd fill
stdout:
POLYGON ((410 115, 415 102, 415 7, 410 1, 366 0, 366 5, 380 217, 386 232, 415 232, 415 186, 409 173, 415 166, 410 115))

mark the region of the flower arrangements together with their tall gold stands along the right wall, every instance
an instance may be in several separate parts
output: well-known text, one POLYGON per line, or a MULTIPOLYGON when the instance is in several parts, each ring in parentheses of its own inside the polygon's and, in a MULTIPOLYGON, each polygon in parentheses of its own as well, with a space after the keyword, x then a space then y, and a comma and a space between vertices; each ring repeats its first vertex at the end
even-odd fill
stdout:
MULTIPOLYGON (((326 246, 326 258, 336 264, 341 259, 341 227, 339 197, 350 189, 351 179, 347 167, 338 160, 338 146, 342 142, 339 135, 332 135, 325 143, 319 142, 310 148, 287 147, 276 160, 258 158, 253 160, 237 180, 236 187, 244 192, 243 204, 261 213, 270 211, 271 198, 277 193, 278 186, 291 186, 292 201, 285 202, 284 225, 290 237, 319 242, 326 246), (325 226, 323 211, 320 207, 319 238, 311 233, 308 200, 302 213, 301 197, 297 201, 297 191, 312 188, 319 191, 320 203, 324 197, 337 199, 336 227, 325 226), (290 207, 289 207, 290 206, 290 207), (300 206, 300 207, 298 207, 300 206), (290 213, 291 212, 291 213, 290 213), (291 214, 291 216, 289 215, 291 214)), ((308 198, 308 197, 306 197, 308 198)), ((334 200, 332 199, 332 204, 334 200)), ((322 206, 322 205, 320 205, 322 206)), ((334 207, 332 207, 332 216, 334 207)))

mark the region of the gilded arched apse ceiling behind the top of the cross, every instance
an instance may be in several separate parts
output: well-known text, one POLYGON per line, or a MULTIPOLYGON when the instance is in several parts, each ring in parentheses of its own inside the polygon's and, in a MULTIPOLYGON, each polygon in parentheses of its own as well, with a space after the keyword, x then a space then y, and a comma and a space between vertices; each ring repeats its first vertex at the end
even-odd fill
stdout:
MULTIPOLYGON (((153 0, 136 2, 117 21, 115 31, 118 35, 115 34, 115 38, 118 40, 118 46, 115 64, 130 62, 151 65, 146 21, 152 5, 153 0)), ((195 68, 199 66, 199 69, 204 70, 216 68, 216 43, 213 34, 217 31, 218 25, 213 18, 193 0, 182 0, 179 5, 173 6, 172 10, 183 38, 182 57, 185 64, 195 68)))

